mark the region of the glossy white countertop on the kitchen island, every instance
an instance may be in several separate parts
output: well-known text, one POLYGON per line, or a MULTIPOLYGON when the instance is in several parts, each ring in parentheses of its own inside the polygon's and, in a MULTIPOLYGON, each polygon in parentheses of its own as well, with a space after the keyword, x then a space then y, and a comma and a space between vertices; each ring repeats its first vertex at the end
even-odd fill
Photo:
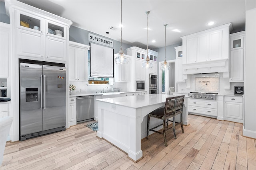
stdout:
POLYGON ((164 103, 166 102, 166 98, 173 97, 173 96, 180 96, 180 95, 145 94, 145 95, 137 95, 137 96, 98 99, 97 101, 116 104, 116 105, 125 106, 125 107, 132 107, 136 109, 139 107, 145 107, 149 105, 164 103))

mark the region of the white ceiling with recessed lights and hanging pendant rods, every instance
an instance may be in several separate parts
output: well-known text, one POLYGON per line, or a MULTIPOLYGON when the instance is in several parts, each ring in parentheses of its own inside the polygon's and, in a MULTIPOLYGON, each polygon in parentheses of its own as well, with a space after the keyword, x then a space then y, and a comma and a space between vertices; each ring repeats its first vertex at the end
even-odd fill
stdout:
MULTIPOLYGON (((120 41, 120 0, 20 1, 69 19, 75 27, 120 41)), ((166 46, 182 42, 184 35, 226 23, 232 23, 232 32, 245 29, 245 0, 122 0, 123 43, 146 48, 147 10, 150 49, 164 47, 164 23, 168 24, 166 46), (209 21, 215 24, 208 26, 209 21)))

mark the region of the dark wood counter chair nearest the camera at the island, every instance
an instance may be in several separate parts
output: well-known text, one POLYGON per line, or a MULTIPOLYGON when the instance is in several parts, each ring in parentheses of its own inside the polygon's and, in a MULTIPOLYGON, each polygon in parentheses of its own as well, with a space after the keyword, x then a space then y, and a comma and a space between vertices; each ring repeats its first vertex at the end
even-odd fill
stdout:
MULTIPOLYGON (((148 125, 147 125, 147 139, 149 135, 149 131, 153 131, 156 133, 160 133, 164 135, 164 145, 167 147, 167 142, 166 142, 166 132, 168 130, 168 119, 171 117, 174 117, 175 115, 175 110, 176 110, 176 102, 177 99, 176 97, 171 97, 171 98, 166 98, 165 106, 159 109, 156 109, 148 114, 148 125), (150 117, 155 117, 157 119, 162 119, 163 123, 160 125, 157 125, 156 127, 149 128, 150 124, 150 117), (157 127, 163 126, 163 131, 159 132, 154 129, 157 127)), ((170 127, 169 129, 171 129, 170 127)))

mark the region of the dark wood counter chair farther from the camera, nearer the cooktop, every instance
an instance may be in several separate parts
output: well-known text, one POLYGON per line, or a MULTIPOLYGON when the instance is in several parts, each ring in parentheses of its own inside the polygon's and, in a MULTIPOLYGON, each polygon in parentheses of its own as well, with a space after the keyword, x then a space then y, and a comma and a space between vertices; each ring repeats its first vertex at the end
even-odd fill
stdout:
MULTIPOLYGON (((182 122, 182 112, 183 112, 183 103, 184 103, 184 98, 185 98, 185 95, 182 95, 182 96, 176 96, 175 97, 177 102, 176 102, 176 109, 175 109, 175 113, 174 113, 174 116, 172 117, 172 128, 173 128, 173 133, 174 133, 174 138, 177 139, 176 137, 176 125, 180 125, 181 126, 181 130, 182 130, 182 133, 184 133, 184 129, 183 129, 183 122, 182 122), (175 121, 175 116, 176 115, 180 115, 180 122, 176 122, 175 121)), ((171 121, 168 119, 168 121, 171 121)), ((166 122, 167 123, 167 127, 168 127, 168 121, 166 122)))

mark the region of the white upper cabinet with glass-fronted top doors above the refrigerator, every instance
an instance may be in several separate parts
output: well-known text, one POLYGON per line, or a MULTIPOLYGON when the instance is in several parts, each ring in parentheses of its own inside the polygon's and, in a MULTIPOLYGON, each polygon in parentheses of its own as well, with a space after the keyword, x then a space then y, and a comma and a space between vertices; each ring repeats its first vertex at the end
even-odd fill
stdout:
POLYGON ((18 1, 6 1, 19 58, 66 62, 69 27, 72 24, 54 14, 18 1))

